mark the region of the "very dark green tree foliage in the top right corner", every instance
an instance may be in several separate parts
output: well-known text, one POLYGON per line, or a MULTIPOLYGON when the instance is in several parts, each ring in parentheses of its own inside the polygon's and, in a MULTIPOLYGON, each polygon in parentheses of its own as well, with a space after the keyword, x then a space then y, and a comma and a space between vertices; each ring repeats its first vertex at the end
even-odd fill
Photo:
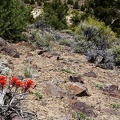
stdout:
POLYGON ((87 16, 94 15, 104 21, 120 36, 120 0, 86 0, 83 6, 87 16))

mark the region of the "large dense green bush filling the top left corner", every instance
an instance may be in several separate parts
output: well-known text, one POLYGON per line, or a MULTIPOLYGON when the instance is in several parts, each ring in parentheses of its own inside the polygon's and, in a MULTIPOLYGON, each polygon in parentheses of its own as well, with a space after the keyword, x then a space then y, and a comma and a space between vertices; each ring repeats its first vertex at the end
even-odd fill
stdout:
POLYGON ((30 8, 20 0, 0 0, 0 36, 21 40, 30 20, 30 8))

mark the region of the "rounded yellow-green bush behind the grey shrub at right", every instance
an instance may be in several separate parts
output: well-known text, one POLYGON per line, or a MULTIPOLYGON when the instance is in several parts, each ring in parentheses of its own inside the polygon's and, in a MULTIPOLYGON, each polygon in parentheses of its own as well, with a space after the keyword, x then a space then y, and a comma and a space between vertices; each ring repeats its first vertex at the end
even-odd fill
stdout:
POLYGON ((96 44, 97 40, 103 40, 107 43, 107 47, 111 47, 112 42, 116 39, 116 34, 109 26, 105 26, 104 22, 92 17, 81 22, 76 32, 83 35, 87 41, 93 41, 96 44))

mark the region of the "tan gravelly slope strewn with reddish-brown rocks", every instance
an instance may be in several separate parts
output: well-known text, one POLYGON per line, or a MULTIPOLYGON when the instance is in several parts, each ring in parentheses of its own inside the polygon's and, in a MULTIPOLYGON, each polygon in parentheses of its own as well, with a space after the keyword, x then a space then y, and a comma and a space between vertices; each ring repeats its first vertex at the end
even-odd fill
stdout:
POLYGON ((30 94, 22 105, 38 120, 120 120, 119 70, 95 67, 58 43, 50 51, 35 50, 25 42, 12 46, 19 55, 1 52, 0 59, 20 79, 25 78, 25 68, 32 70, 38 95, 30 94))

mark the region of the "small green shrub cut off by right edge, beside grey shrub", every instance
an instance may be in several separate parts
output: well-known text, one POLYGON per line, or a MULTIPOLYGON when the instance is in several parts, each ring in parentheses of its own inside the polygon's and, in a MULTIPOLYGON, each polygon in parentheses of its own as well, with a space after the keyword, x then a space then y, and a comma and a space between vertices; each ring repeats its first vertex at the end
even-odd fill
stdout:
POLYGON ((113 47, 113 54, 114 54, 114 57, 115 57, 116 65, 120 66, 120 46, 119 45, 113 47))

